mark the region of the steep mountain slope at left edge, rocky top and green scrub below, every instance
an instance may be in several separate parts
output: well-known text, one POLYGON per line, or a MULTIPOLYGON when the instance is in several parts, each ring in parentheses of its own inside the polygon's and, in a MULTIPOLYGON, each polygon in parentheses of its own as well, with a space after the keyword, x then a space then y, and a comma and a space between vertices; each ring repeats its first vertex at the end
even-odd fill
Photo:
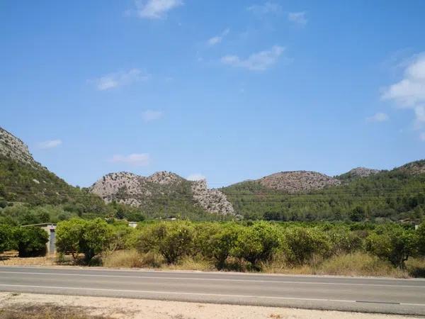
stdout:
POLYGON ((101 198, 67 184, 35 161, 27 145, 0 128, 0 201, 66 206, 68 211, 103 213, 101 198))

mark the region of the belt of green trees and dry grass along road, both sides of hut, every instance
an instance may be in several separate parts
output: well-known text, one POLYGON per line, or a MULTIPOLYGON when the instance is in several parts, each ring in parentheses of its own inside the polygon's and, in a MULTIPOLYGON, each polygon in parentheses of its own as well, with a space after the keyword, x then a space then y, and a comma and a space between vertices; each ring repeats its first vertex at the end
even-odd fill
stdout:
MULTIPOLYGON (((0 226, 0 251, 42 254, 38 228, 0 226)), ((237 272, 425 276, 425 223, 142 222, 57 224, 58 262, 237 272)))

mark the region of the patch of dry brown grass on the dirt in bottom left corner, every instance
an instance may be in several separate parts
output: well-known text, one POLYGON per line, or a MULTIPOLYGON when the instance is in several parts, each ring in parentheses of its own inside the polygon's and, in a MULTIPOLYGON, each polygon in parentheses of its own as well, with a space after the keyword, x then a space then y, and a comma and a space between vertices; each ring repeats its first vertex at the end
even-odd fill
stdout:
POLYGON ((84 314, 84 308, 45 305, 8 306, 0 308, 1 319, 106 319, 84 314))

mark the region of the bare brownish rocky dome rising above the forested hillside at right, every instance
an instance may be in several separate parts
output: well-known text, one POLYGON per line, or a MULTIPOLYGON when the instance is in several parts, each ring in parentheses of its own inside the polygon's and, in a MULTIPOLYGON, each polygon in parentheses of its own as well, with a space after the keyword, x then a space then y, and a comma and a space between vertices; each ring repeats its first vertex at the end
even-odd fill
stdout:
POLYGON ((341 184, 338 179, 309 171, 280 172, 263 177, 258 181, 268 189, 285 191, 290 194, 314 191, 327 186, 341 184))

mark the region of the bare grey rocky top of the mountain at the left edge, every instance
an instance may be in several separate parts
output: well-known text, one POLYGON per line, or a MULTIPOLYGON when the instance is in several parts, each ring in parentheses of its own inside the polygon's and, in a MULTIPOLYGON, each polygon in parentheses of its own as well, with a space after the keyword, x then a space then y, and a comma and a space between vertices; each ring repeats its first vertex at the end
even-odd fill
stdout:
POLYGON ((0 155, 23 164, 29 164, 34 168, 41 167, 41 165, 33 159, 33 155, 30 154, 28 146, 19 138, 16 138, 16 136, 8 133, 4 128, 0 128, 0 155))

